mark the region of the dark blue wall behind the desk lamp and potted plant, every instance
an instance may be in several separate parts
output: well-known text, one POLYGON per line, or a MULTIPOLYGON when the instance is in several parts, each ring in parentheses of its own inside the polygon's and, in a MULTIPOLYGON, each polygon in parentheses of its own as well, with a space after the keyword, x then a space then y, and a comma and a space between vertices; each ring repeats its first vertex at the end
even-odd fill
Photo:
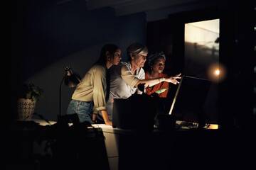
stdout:
MULTIPOLYGON (((58 89, 69 65, 83 76, 100 57, 106 43, 122 50, 132 42, 145 43, 145 13, 115 16, 114 8, 88 11, 86 1, 12 1, 9 13, 9 106, 16 113, 16 85, 26 82, 40 86, 44 97, 36 112, 55 120, 58 114, 58 89), (12 78, 11 78, 12 77, 12 78)), ((65 113, 74 89, 63 86, 65 113)), ((9 115, 8 115, 9 116, 9 115)))

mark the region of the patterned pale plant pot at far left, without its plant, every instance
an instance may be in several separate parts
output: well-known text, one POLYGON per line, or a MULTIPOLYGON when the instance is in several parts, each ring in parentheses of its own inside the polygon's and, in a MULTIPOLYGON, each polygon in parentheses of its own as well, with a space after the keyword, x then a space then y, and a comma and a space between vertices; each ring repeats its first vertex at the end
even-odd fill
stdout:
POLYGON ((31 119, 36 108, 36 101, 31 99, 18 98, 18 119, 31 119))

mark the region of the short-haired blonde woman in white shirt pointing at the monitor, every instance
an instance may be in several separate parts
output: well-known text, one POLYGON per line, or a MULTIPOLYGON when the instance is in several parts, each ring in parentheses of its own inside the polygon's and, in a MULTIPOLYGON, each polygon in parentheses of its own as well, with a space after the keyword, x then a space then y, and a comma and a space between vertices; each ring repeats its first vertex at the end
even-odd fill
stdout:
POLYGON ((161 81, 177 84, 176 79, 181 77, 161 77, 156 79, 145 79, 145 72, 142 67, 146 62, 146 55, 149 53, 147 47, 141 43, 132 43, 127 47, 127 62, 120 62, 113 70, 110 77, 110 98, 107 101, 107 113, 112 120, 112 109, 114 98, 129 98, 136 92, 142 94, 144 91, 139 91, 138 85, 144 84, 154 86, 161 81))

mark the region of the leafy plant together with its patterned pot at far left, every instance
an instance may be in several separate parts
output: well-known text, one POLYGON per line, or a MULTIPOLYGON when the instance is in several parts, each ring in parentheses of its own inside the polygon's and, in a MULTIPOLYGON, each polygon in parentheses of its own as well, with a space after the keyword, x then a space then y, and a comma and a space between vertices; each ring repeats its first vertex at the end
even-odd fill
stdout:
POLYGON ((18 94, 18 119, 31 119, 36 108, 36 101, 43 96, 43 89, 35 84, 21 84, 18 94))

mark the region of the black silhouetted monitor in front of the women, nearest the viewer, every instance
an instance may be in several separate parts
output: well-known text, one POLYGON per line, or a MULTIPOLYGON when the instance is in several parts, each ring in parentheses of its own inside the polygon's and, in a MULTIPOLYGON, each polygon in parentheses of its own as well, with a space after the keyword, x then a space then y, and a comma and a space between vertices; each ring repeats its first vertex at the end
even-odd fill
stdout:
POLYGON ((125 99, 114 98, 113 128, 152 131, 155 115, 154 98, 148 95, 134 94, 125 99))

